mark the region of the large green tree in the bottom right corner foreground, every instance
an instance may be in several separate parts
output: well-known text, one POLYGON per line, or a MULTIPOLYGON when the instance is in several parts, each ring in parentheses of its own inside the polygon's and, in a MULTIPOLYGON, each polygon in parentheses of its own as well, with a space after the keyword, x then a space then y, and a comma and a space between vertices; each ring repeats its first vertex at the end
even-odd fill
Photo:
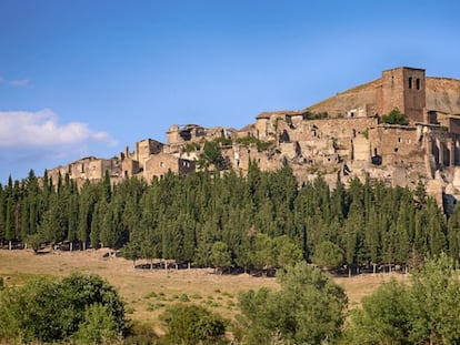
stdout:
POLYGON ((428 258, 410 284, 390 282, 363 298, 349 344, 459 344, 460 281, 446 255, 428 258))

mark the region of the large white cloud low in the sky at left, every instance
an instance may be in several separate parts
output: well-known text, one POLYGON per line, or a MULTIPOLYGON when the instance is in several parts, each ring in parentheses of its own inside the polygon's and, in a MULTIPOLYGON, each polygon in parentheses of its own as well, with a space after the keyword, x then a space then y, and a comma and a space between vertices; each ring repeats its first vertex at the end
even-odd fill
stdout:
POLYGON ((0 111, 0 149, 78 146, 89 142, 116 145, 109 134, 93 131, 87 123, 60 124, 57 114, 49 109, 0 111))

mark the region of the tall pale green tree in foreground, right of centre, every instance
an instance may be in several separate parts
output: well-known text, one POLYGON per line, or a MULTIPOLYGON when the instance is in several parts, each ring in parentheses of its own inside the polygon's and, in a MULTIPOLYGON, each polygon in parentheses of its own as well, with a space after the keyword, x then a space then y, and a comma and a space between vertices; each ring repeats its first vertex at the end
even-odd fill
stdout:
POLYGON ((344 321, 347 295, 331 277, 304 262, 277 275, 281 288, 239 297, 240 336, 246 344, 321 344, 336 339, 344 321))

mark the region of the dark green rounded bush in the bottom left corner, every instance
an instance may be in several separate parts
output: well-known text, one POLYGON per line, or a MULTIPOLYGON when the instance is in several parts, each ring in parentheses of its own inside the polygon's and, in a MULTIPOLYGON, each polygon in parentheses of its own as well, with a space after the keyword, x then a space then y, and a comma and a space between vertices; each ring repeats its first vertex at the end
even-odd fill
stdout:
POLYGON ((80 327, 87 327, 89 334, 101 308, 108 317, 103 325, 110 324, 106 335, 122 334, 124 304, 117 291, 101 277, 72 274, 62 281, 36 278, 21 287, 1 292, 0 339, 19 343, 67 341, 80 327))

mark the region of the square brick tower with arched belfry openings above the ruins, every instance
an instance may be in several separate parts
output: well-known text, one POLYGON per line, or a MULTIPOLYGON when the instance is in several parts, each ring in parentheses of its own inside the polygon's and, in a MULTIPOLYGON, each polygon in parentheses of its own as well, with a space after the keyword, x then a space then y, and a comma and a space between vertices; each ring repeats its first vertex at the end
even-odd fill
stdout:
POLYGON ((424 70, 401 67, 383 71, 379 92, 377 104, 379 115, 388 114, 398 108, 410 122, 423 122, 424 70))

